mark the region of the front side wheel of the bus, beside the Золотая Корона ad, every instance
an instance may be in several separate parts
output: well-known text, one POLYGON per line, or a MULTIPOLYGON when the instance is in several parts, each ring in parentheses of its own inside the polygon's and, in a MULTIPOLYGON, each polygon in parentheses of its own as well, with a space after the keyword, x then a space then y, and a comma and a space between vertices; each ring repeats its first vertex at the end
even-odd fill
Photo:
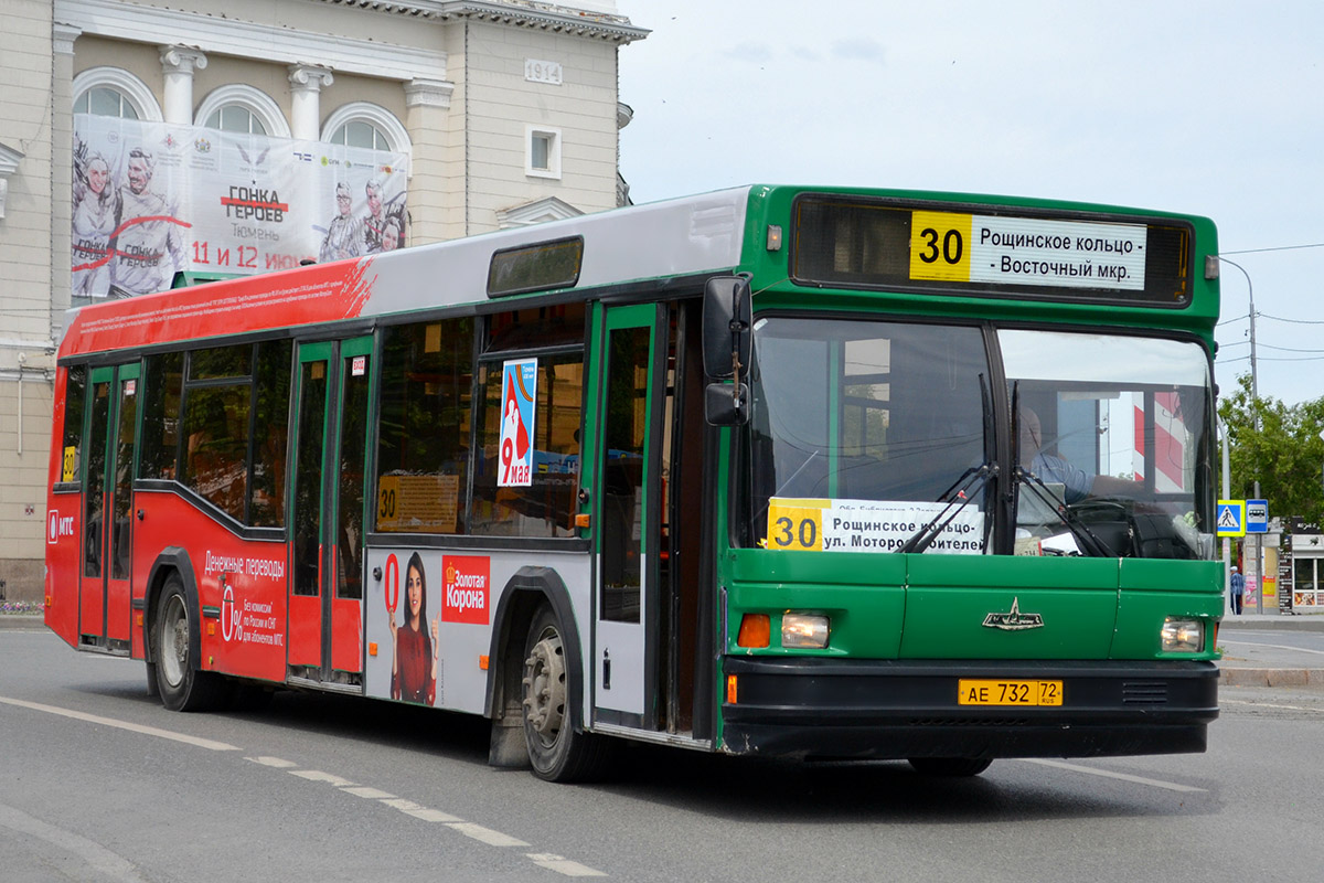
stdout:
POLYGON ((561 625, 543 604, 524 641, 524 744, 534 774, 548 782, 598 778, 609 761, 609 743, 576 732, 569 707, 571 671, 561 625))

